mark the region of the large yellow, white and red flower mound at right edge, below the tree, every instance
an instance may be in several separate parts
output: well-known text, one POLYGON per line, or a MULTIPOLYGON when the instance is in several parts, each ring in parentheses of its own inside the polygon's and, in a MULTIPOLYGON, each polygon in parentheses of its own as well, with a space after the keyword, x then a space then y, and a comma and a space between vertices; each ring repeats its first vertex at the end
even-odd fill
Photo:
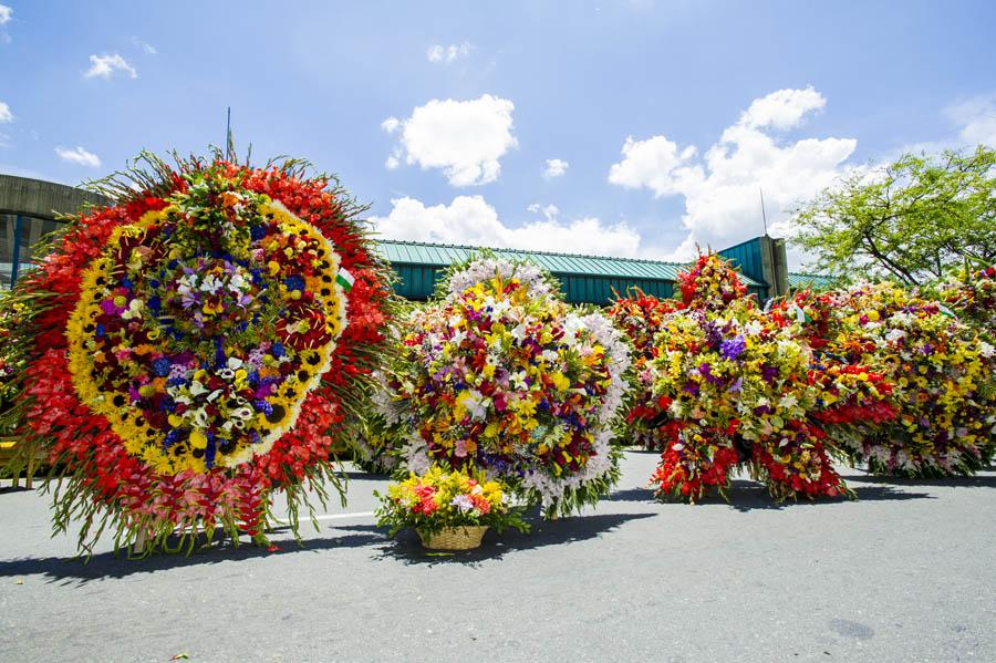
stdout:
POLYGON ((865 387, 884 383, 875 390, 883 402, 838 429, 849 433, 837 435, 843 452, 873 472, 904 476, 972 474, 989 462, 996 350, 976 329, 891 283, 797 299, 829 320, 820 332, 826 364, 867 374, 865 387))

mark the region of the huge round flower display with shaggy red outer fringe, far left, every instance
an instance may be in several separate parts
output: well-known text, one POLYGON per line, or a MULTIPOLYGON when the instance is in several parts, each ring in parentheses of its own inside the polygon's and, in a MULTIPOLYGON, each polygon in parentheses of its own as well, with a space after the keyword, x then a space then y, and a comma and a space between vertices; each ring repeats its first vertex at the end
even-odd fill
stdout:
POLYGON ((303 484, 338 487, 386 271, 362 208, 298 162, 145 158, 152 174, 108 180, 121 203, 74 219, 19 282, 37 310, 22 428, 65 468, 55 522, 80 518, 81 546, 108 524, 146 550, 198 528, 262 541, 270 493, 297 528, 303 484))

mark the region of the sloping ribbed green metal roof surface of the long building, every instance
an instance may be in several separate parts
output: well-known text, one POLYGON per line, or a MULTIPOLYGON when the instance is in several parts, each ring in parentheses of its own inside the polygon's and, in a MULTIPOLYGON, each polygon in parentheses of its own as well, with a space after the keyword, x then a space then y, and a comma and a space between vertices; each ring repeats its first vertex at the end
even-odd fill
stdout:
MULTIPOLYGON (((426 265, 446 267, 466 260, 479 247, 459 245, 425 244, 421 241, 377 241, 383 256, 393 265, 426 265)), ((521 249, 490 249, 496 256, 515 260, 529 260, 559 274, 591 276, 625 279, 655 279, 677 281, 677 274, 687 266, 679 262, 641 260, 635 258, 606 258, 603 256, 578 256, 573 253, 551 253, 547 251, 525 251, 521 249)), ((759 287, 760 283, 741 274, 744 283, 759 287)))

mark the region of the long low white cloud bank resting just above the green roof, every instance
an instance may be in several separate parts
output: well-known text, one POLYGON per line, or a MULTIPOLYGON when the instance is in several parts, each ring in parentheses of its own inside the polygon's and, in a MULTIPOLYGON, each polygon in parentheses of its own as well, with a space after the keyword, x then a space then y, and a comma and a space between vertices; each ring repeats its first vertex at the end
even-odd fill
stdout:
POLYGON ((556 206, 530 206, 543 218, 513 228, 481 196, 430 207, 408 197, 391 203, 386 217, 371 219, 391 239, 619 257, 635 257, 640 249, 640 235, 625 224, 606 226, 593 217, 561 221, 556 206))

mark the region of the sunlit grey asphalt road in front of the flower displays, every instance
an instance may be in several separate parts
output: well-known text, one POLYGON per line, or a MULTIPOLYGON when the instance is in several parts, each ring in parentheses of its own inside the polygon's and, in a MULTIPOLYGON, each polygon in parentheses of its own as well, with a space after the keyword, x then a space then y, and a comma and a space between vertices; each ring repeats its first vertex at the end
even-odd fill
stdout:
POLYGON ((531 536, 427 556, 353 474, 303 549, 86 566, 46 498, 0 494, 0 661, 996 661, 996 472, 870 480, 861 500, 660 505, 630 453, 612 498, 531 536))

